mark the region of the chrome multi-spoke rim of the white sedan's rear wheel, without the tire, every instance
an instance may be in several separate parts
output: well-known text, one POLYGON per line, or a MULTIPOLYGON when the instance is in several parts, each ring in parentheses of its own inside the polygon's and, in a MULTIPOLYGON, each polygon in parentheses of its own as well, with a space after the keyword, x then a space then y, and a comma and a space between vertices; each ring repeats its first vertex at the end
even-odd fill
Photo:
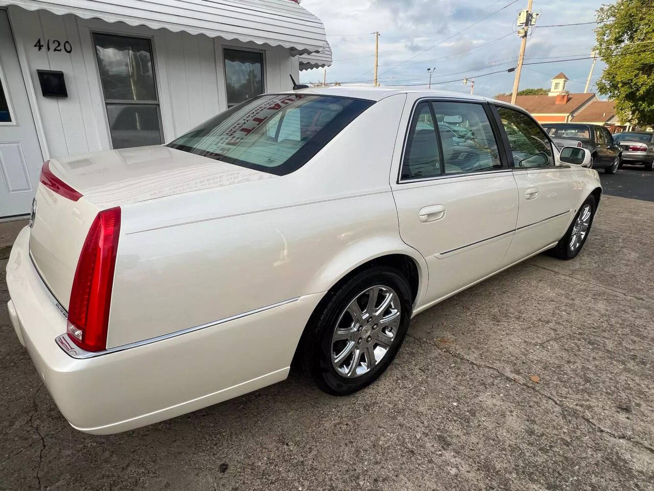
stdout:
POLYGON ((400 297, 385 285, 356 295, 339 316, 332 336, 330 352, 337 373, 354 378, 373 369, 397 338, 400 311, 400 297))

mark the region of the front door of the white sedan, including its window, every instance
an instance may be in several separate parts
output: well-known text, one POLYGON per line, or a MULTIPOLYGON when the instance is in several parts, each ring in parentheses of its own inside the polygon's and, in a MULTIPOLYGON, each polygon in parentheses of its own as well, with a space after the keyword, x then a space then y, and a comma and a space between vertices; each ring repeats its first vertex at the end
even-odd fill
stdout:
POLYGON ((514 135, 506 147, 519 199, 515 236, 507 254, 509 263, 515 263, 559 241, 576 211, 581 183, 570 166, 560 165, 549 137, 534 118, 513 107, 496 106, 494 111, 498 122, 514 135))

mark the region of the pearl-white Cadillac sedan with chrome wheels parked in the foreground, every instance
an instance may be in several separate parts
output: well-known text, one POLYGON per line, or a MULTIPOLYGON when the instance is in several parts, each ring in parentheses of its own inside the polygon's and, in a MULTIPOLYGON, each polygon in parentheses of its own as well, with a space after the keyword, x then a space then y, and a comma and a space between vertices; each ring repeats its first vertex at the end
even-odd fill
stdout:
POLYGON ((600 202, 585 149, 435 91, 266 94, 165 146, 53 158, 9 314, 70 424, 116 433, 284 380, 361 390, 409 319, 547 249, 600 202))

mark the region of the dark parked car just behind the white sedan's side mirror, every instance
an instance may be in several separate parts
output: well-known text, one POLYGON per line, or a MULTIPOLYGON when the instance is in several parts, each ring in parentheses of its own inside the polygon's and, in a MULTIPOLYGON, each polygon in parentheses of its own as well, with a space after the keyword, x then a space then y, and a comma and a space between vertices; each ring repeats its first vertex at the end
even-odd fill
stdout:
POLYGON ((571 145, 591 151, 593 168, 614 174, 620 167, 622 148, 613 141, 611 132, 597 124, 547 123, 547 134, 559 146, 571 145))

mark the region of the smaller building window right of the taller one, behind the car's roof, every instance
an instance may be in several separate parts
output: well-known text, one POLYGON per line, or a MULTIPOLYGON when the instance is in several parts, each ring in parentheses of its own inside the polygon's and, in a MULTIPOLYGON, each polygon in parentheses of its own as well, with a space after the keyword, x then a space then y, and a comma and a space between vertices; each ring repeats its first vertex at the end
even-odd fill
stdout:
POLYGON ((264 93, 264 54, 225 48, 225 82, 227 107, 240 104, 264 93))

